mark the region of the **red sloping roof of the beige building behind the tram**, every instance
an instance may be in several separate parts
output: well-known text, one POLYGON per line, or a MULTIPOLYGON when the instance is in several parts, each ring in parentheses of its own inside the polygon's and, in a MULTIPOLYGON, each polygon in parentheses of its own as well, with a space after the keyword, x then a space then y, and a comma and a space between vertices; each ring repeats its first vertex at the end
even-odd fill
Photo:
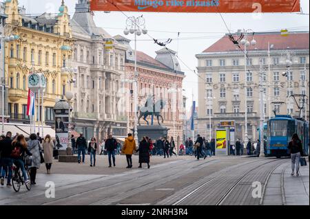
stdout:
MULTIPOLYGON (((289 36, 281 36, 280 32, 255 33, 254 38, 256 45, 248 47, 248 50, 267 50, 268 43, 273 45, 272 50, 309 49, 309 32, 290 32, 289 36)), ((229 40, 226 34, 203 52, 236 51, 236 49, 238 47, 229 40)), ((241 49, 243 49, 242 45, 241 49)))

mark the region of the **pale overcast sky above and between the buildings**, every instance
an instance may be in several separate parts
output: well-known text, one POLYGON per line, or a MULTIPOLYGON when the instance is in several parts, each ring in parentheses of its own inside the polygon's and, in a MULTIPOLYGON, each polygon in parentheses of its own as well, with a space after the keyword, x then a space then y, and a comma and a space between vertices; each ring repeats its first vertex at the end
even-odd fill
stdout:
MULTIPOLYGON (((2 0, 3 1, 3 0, 2 0)), ((77 0, 65 0, 68 5, 70 15, 74 13, 74 7, 77 0)), ((304 14, 222 14, 231 32, 238 29, 252 29, 254 32, 260 31, 280 31, 288 30, 307 30, 309 31, 309 0, 300 0, 302 12, 304 14)), ((61 0, 19 0, 19 5, 25 5, 27 13, 40 14, 43 12, 55 13, 61 5, 61 0)), ((172 38, 172 43, 167 47, 178 51, 179 58, 185 62, 180 65, 185 71, 184 80, 185 95, 188 97, 187 107, 192 102, 192 90, 194 90, 194 100, 197 100, 197 77, 193 73, 196 69, 196 54, 215 43, 228 31, 220 18, 220 14, 189 14, 189 13, 136 13, 124 12, 127 16, 140 16, 146 21, 146 28, 152 38, 167 41, 172 38), (179 40, 178 32, 180 32, 179 40), (191 70, 189 70, 191 69, 191 70), (193 89, 194 88, 194 89, 193 89)), ((125 28, 126 16, 122 12, 95 12, 94 20, 96 25, 103 27, 112 36, 122 34, 125 28)), ((133 35, 126 36, 133 39, 133 35)), ((149 56, 155 57, 155 51, 161 49, 154 44, 149 36, 138 37, 138 50, 141 50, 149 56)), ((132 42, 132 47, 133 47, 132 42)))

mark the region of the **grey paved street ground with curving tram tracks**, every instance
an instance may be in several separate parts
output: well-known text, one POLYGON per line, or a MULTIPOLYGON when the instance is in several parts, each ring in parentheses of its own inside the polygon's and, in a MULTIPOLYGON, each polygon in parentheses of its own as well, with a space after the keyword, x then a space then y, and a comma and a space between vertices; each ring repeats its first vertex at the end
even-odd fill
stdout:
POLYGON ((0 205, 309 205, 309 165, 291 176, 289 159, 257 157, 152 157, 151 168, 126 169, 124 156, 116 168, 107 157, 85 164, 58 163, 52 174, 42 166, 37 185, 16 194, 0 187, 0 205), (45 197, 45 183, 55 184, 55 198, 45 197), (260 183, 262 196, 254 198, 260 183))

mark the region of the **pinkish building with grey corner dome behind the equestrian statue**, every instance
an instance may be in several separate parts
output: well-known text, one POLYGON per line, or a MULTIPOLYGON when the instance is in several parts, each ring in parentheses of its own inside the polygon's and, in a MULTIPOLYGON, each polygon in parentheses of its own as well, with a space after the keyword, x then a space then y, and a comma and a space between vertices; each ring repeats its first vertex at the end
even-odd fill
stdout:
MULTIPOLYGON (((134 51, 130 47, 130 40, 123 36, 114 36, 114 38, 126 45, 126 91, 124 92, 125 104, 127 109, 128 128, 134 128, 134 51)), ((147 98, 152 96, 153 102, 158 100, 165 101, 165 107, 161 111, 163 115, 163 126, 169 128, 168 136, 174 137, 177 146, 183 141, 183 79, 184 72, 180 71, 180 65, 176 58, 176 52, 167 49, 156 51, 156 58, 152 58, 142 51, 137 51, 137 72, 138 72, 138 106, 144 106, 147 98)), ((147 118, 149 124, 152 124, 151 117, 147 118)), ((143 118, 141 125, 146 122, 143 118)), ((161 122, 161 121, 160 121, 161 122)), ((157 119, 154 117, 154 124, 157 119)), ((130 131, 128 130, 128 131, 130 131)))

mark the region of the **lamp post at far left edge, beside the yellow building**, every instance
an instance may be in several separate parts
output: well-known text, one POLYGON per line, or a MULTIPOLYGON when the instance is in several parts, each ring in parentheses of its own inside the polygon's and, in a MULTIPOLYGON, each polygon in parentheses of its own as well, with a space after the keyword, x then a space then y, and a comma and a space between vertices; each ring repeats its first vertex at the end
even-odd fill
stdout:
POLYGON ((3 68, 2 68, 2 77, 1 77, 1 95, 2 95, 2 112, 1 112, 1 117, 2 117, 2 135, 4 135, 4 108, 5 108, 5 95, 4 92, 6 90, 6 42, 14 41, 16 38, 14 35, 11 36, 0 36, 1 37, 1 47, 2 49, 2 56, 3 56, 3 68))

